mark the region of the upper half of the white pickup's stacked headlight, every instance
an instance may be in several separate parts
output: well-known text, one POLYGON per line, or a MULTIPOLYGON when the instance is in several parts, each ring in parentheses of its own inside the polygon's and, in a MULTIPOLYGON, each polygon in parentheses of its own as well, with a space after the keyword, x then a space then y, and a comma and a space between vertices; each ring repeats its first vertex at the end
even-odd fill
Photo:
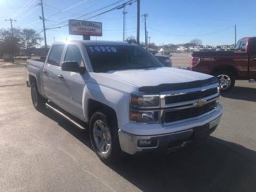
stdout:
POLYGON ((159 95, 137 95, 131 94, 131 107, 159 107, 159 95))

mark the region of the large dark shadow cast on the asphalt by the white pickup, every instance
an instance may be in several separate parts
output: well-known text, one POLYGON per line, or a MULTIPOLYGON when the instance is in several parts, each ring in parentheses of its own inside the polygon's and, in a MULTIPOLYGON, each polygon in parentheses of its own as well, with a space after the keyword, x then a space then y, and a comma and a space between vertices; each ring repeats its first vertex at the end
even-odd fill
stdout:
MULTIPOLYGON (((47 110, 44 115, 91 148, 87 131, 47 110)), ((256 153, 210 137, 171 154, 129 156, 108 166, 142 191, 255 191, 256 153)), ((125 189, 129 190, 129 189, 125 189)))

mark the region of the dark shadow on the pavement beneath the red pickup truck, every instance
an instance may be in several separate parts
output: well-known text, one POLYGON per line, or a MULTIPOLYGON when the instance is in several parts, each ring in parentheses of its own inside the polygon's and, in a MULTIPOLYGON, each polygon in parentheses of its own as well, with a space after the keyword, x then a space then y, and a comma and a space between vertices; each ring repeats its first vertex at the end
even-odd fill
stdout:
POLYGON ((234 86, 230 92, 221 93, 221 96, 229 99, 238 99, 256 102, 256 88, 234 86))

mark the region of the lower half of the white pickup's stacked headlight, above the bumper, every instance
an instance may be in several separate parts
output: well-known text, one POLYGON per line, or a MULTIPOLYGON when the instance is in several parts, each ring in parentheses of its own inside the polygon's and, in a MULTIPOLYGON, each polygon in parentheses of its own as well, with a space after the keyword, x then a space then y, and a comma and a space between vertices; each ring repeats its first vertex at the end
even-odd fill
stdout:
POLYGON ((159 111, 138 111, 130 109, 130 120, 137 123, 158 123, 159 111))

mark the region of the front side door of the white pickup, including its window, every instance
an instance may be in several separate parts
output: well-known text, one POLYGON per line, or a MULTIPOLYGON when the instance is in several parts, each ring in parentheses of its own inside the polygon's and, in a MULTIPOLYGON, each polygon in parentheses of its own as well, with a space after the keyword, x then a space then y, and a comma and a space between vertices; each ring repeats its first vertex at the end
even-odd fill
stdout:
MULTIPOLYGON (((81 51, 82 49, 79 49, 79 45, 76 43, 69 44, 63 61, 77 61, 80 66, 85 67, 81 51)), ((70 71, 60 71, 59 75, 62 76, 61 90, 57 93, 59 105, 71 114, 84 119, 83 91, 86 77, 89 77, 89 74, 87 71, 84 75, 70 71)))

